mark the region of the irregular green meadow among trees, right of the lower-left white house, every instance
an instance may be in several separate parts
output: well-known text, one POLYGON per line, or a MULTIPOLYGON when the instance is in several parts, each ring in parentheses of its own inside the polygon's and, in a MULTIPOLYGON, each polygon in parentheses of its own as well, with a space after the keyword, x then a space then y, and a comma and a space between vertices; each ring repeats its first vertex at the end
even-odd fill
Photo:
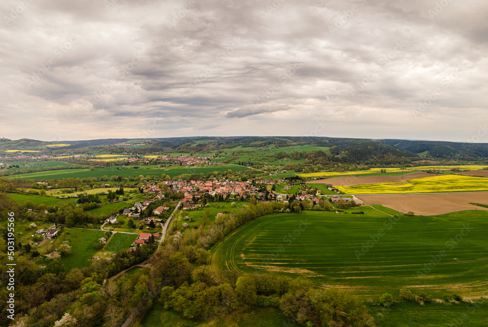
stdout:
POLYGON ((69 240, 71 253, 61 257, 66 272, 75 267, 81 268, 91 265, 89 259, 97 253, 97 249, 93 246, 99 242, 99 238, 103 237, 104 234, 104 231, 65 228, 57 237, 56 244, 60 245, 63 240, 69 240))

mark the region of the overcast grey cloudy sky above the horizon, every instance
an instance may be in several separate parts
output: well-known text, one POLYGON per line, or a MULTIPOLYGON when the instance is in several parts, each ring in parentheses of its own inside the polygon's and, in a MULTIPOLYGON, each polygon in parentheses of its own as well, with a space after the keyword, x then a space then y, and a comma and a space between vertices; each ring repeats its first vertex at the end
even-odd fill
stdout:
POLYGON ((0 137, 488 142, 486 0, 2 0, 0 137))

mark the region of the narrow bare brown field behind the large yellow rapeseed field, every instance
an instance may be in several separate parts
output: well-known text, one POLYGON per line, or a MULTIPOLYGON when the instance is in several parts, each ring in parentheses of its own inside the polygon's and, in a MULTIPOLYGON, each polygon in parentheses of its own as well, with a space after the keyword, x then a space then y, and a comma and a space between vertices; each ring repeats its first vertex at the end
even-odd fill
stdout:
POLYGON ((349 176, 349 177, 326 178, 326 179, 314 180, 307 183, 332 184, 334 186, 349 186, 349 185, 375 184, 375 183, 393 183, 393 182, 402 183, 402 182, 407 182, 407 180, 409 179, 434 177, 434 176, 442 176, 442 175, 435 175, 432 173, 406 173, 403 176, 403 178, 402 176, 364 176, 364 177, 349 176))

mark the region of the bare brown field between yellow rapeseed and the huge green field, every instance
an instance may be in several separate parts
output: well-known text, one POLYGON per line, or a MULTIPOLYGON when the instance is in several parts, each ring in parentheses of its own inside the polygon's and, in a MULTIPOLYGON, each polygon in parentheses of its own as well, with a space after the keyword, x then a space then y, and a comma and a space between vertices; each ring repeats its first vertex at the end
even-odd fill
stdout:
POLYGON ((488 210, 469 204, 488 205, 488 192, 449 194, 358 195, 367 204, 382 204, 399 212, 436 215, 462 210, 488 210))

